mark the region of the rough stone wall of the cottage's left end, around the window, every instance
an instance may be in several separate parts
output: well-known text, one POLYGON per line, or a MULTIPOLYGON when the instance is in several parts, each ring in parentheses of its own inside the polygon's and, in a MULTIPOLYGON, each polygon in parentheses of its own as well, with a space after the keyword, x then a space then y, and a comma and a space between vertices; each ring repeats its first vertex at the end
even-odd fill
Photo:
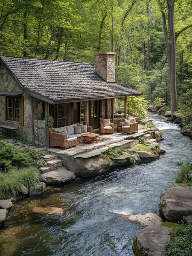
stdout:
MULTIPOLYGON (((0 91, 23 93, 22 87, 19 84, 17 84, 14 77, 9 73, 9 71, 4 67, 3 64, 0 64, 0 91)), ((6 104, 5 104, 4 96, 0 96, 0 124, 11 126, 14 128, 19 128, 19 134, 25 139, 32 141, 33 119, 41 119, 42 104, 40 103, 39 99, 32 98, 31 100, 30 99, 31 96, 26 93, 23 93, 23 97, 24 97, 24 126, 20 125, 19 122, 6 120, 6 110, 5 110, 6 104), (32 119, 32 107, 34 109, 33 119, 32 119)), ((43 132, 41 134, 43 136, 43 132)), ((43 139, 41 139, 40 141, 43 141, 43 139)))

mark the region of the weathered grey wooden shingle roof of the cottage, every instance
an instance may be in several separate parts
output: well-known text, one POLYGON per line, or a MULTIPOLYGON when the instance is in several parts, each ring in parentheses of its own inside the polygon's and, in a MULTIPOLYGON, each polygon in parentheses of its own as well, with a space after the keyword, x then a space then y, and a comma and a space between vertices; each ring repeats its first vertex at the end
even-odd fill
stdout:
POLYGON ((142 95, 120 84, 105 82, 88 63, 6 56, 0 60, 26 93, 42 96, 50 103, 142 95))

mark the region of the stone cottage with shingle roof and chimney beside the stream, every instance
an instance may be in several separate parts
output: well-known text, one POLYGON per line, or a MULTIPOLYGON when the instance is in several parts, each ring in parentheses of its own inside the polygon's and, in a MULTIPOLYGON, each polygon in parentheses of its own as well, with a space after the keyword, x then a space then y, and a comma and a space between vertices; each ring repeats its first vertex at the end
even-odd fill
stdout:
MULTIPOLYGON (((114 99, 141 95, 115 83, 112 52, 95 53, 88 63, 0 56, 0 129, 15 130, 25 139, 45 145, 47 115, 54 127, 114 118, 114 99)), ((127 113, 125 109, 125 113, 127 113)))

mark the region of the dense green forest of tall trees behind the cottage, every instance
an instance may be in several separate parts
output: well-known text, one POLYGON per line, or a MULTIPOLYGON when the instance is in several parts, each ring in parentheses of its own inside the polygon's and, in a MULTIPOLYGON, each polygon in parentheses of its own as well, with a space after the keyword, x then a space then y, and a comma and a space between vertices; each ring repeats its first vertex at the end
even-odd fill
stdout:
POLYGON ((0 0, 0 55, 94 65, 97 51, 116 52, 116 82, 192 128, 191 0, 0 0))

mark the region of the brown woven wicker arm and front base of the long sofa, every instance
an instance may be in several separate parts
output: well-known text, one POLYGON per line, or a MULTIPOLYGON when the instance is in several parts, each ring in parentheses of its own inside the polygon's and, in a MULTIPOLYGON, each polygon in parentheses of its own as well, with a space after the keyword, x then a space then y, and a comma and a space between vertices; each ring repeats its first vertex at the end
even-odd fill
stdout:
POLYGON ((52 147, 62 147, 62 148, 71 148, 77 146, 78 140, 67 142, 65 134, 53 132, 50 129, 50 148, 52 147))

